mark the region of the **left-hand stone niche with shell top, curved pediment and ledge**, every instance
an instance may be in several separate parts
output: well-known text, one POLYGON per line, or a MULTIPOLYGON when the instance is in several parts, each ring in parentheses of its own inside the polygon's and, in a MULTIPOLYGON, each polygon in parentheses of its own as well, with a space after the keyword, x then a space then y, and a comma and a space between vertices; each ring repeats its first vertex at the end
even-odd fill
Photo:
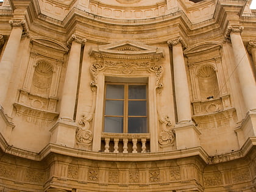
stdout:
POLYGON ((65 45, 49 38, 33 38, 30 43, 29 63, 18 101, 13 105, 18 116, 29 123, 50 123, 59 115, 56 112, 57 93, 65 45))

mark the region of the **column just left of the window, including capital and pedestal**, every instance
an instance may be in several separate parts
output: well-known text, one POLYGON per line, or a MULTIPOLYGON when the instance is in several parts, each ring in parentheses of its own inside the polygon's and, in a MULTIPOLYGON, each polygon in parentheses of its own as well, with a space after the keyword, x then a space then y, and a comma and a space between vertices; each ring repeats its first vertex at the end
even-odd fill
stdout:
POLYGON ((80 52, 81 46, 85 41, 84 38, 78 37, 76 34, 71 35, 71 38, 68 40, 68 44, 71 44, 71 48, 69 51, 62 101, 60 104, 60 118, 50 129, 50 142, 69 148, 74 148, 76 141, 77 125, 74 123, 73 116, 79 77, 80 52))

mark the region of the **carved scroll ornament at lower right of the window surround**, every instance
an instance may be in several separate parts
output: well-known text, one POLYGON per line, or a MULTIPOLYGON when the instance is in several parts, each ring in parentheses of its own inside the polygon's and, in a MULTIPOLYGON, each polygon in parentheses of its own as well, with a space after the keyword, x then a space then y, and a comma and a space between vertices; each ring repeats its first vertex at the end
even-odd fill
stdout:
POLYGON ((162 124, 161 129, 162 132, 159 134, 158 142, 162 146, 171 146, 174 143, 174 133, 171 126, 171 120, 169 116, 166 116, 164 119, 159 119, 160 123, 162 124))

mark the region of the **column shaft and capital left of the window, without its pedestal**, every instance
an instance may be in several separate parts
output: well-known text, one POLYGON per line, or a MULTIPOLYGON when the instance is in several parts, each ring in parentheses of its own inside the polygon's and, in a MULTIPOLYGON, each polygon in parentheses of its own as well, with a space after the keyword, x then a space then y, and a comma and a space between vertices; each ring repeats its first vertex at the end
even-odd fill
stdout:
POLYGON ((68 43, 71 44, 68 66, 66 68, 66 77, 60 104, 60 118, 73 121, 74 107, 76 104, 76 91, 79 76, 80 52, 85 39, 76 34, 71 35, 68 43))

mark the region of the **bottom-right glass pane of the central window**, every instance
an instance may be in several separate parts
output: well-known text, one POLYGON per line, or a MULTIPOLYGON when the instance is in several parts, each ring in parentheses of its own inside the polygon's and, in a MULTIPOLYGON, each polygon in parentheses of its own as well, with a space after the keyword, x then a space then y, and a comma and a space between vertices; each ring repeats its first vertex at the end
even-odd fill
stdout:
POLYGON ((128 118, 128 133, 146 133, 147 118, 128 118))

